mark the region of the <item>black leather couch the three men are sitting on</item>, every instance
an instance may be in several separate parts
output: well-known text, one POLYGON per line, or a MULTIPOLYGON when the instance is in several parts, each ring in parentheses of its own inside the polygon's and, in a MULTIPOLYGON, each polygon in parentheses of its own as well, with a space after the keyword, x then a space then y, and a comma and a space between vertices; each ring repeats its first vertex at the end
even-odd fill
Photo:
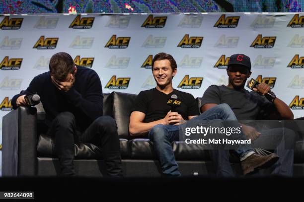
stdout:
MULTIPOLYGON (((160 176, 161 168, 153 151, 153 143, 145 137, 129 135, 129 116, 137 95, 112 92, 104 94, 104 115, 116 120, 120 137, 124 175, 128 177, 160 176)), ((200 106, 200 98, 196 99, 200 106)), ((54 140, 45 135, 45 113, 41 105, 18 107, 2 120, 2 176, 55 176, 59 162, 54 140)), ((214 168, 204 146, 173 142, 173 151, 183 176, 212 175, 214 168), (190 148, 191 147, 191 148, 190 148), (197 148, 193 148, 197 147, 197 148)), ((75 166, 79 176, 103 176, 105 167, 102 151, 90 143, 75 144, 75 166)), ((231 159, 237 174, 241 169, 237 158, 231 159)), ((304 144, 297 142, 295 175, 304 174, 304 144)))

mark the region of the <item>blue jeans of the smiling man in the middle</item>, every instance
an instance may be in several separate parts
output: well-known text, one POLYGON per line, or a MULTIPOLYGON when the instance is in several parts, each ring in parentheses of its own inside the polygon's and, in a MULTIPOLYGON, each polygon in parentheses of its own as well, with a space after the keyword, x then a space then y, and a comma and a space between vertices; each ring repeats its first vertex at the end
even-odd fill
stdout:
MULTIPOLYGON (((214 119, 225 120, 237 120, 233 111, 228 104, 223 103, 215 107, 210 108, 201 115, 190 119, 187 124, 196 125, 202 124, 202 122, 207 122, 214 119)), ((186 127, 186 123, 180 126, 173 125, 162 125, 157 124, 149 132, 149 139, 153 142, 154 150, 158 157, 161 165, 162 173, 165 176, 180 176, 178 171, 178 165, 175 161, 173 149, 171 143, 174 141, 179 141, 179 132, 182 128, 186 127)), ((240 133, 240 137, 237 139, 246 139, 243 133, 240 133)), ((236 152, 239 155, 243 155, 248 151, 252 151, 253 148, 250 145, 243 146, 236 152)))

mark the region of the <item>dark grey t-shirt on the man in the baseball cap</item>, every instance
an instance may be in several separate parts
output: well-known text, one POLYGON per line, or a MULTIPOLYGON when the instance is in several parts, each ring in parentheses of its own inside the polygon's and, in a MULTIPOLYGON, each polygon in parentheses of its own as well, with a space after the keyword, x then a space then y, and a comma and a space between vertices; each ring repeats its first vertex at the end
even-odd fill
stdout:
POLYGON ((273 108, 265 96, 247 90, 236 91, 225 85, 211 85, 203 95, 202 105, 227 103, 238 120, 256 120, 262 109, 273 108))

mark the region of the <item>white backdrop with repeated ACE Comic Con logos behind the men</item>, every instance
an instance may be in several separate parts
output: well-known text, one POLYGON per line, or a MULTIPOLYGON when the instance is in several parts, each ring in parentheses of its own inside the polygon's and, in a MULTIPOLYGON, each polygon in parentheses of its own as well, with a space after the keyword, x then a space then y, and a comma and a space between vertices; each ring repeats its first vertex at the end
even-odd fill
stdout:
MULTIPOLYGON (((104 93, 133 94, 155 87, 149 68, 152 56, 170 53, 178 66, 173 87, 194 97, 201 97, 212 84, 228 84, 225 61, 227 64, 231 54, 244 53, 251 58, 252 78, 259 75, 260 81, 270 78, 269 84, 275 81, 272 90, 278 98, 288 105, 296 98, 294 106, 301 106, 299 100, 304 97, 301 16, 304 14, 0 16, 0 136, 2 116, 11 110, 8 102, 26 89, 34 76, 48 71, 50 57, 60 51, 70 53, 76 62, 86 61, 88 68, 98 73, 104 93), (273 48, 250 47, 259 35, 261 39, 256 40, 256 45, 273 48), (44 40, 39 41, 42 36, 44 40), (110 39, 110 45, 124 49, 105 47, 110 39), (33 48, 38 41, 44 49, 33 48), (181 41, 182 45, 199 48, 178 47, 181 41), (294 59, 297 55, 299 58, 294 59), (219 59, 222 63, 216 66, 219 59), (147 68, 142 67, 146 60, 147 68), (292 60, 299 68, 288 67, 292 60), (118 87, 106 88, 111 78, 110 84, 117 83, 118 87), (178 88, 181 82, 184 87, 178 88)), ((293 112, 295 117, 304 116, 303 109, 293 112)))

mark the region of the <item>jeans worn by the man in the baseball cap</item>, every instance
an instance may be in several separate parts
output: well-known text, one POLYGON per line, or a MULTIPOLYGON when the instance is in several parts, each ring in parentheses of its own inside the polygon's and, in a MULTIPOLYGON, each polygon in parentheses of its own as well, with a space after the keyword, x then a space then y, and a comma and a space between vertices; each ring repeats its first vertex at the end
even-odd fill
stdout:
MULTIPOLYGON (((252 142, 252 146, 262 149, 273 148, 274 153, 280 156, 279 160, 270 168, 265 169, 263 174, 292 176, 296 133, 288 128, 273 128, 259 132, 262 135, 252 142)), ((216 175, 224 177, 235 175, 229 162, 229 150, 210 150, 209 153, 215 165, 216 175)))

